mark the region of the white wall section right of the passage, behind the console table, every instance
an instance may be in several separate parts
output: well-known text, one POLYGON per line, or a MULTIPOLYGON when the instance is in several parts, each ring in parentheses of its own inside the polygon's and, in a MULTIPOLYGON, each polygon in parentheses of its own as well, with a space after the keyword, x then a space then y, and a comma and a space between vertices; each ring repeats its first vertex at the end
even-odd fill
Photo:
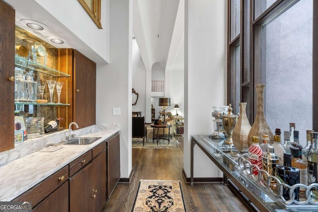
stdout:
MULTIPOLYGON (((190 177, 191 135, 211 135, 212 106, 226 104, 227 1, 185 0, 184 170, 190 177)), ((221 171, 197 147, 194 177, 221 171)))

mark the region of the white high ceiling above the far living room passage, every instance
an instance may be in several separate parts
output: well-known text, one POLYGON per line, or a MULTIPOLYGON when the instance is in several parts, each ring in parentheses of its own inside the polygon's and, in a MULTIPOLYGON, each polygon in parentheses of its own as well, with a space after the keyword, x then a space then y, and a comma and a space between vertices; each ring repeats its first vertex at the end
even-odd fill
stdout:
POLYGON ((183 70, 184 0, 134 0, 133 33, 146 68, 183 70))

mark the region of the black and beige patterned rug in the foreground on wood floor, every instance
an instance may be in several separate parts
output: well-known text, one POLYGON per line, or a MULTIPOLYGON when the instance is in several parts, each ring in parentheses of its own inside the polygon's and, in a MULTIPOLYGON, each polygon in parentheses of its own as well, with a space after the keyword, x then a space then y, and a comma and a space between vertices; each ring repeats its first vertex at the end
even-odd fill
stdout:
POLYGON ((140 180, 132 212, 186 212, 179 180, 140 180))

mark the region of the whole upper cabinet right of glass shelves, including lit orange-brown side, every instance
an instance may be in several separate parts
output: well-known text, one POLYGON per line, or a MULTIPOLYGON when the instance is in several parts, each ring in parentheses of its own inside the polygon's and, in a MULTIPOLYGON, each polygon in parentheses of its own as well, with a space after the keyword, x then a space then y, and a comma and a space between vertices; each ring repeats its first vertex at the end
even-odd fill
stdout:
MULTIPOLYGON (((76 122, 79 128, 96 123, 96 64, 74 49, 58 49, 58 69, 71 74, 64 80, 67 95, 61 101, 71 104, 61 107, 59 117, 68 117, 61 127, 68 129, 69 123, 76 122)), ((63 99, 62 99, 63 98, 63 99)))

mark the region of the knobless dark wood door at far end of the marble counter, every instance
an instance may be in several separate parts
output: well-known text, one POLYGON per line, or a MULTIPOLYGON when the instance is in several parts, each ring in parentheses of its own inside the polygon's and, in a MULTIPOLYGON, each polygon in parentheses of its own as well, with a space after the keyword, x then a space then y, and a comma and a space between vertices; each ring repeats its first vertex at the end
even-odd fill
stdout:
POLYGON ((107 199, 120 179, 119 135, 107 141, 107 199))

